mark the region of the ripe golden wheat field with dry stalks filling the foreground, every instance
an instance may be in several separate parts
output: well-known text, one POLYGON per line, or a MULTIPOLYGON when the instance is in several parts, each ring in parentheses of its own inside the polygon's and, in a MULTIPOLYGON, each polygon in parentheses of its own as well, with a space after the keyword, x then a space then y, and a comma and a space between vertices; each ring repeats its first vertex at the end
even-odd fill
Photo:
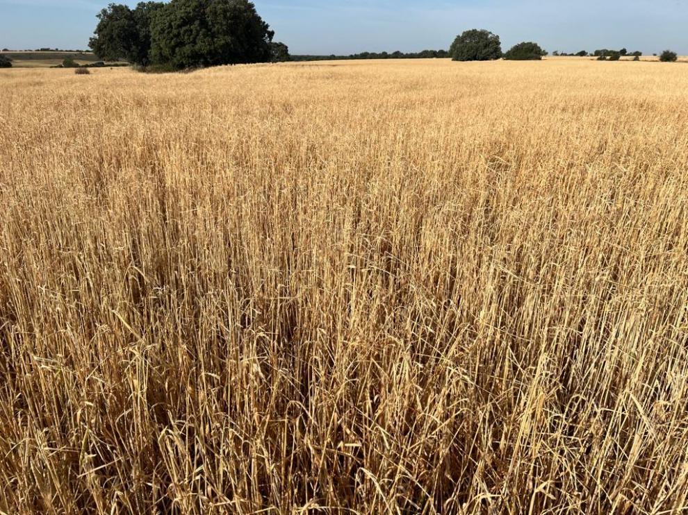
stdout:
POLYGON ((0 71, 0 512, 687 511, 687 81, 0 71))

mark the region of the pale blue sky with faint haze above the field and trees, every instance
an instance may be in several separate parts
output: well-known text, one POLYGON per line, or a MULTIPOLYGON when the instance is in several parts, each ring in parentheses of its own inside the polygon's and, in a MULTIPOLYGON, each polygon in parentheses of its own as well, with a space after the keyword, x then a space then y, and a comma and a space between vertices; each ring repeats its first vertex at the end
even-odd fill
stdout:
MULTIPOLYGON (((113 0, 114 1, 114 0, 113 0)), ((122 0, 120 0, 122 1, 122 0)), ((133 6, 138 0, 124 1, 133 6)), ((0 0, 0 49, 85 48, 108 0, 0 0)), ((291 53, 447 49, 487 28, 502 47, 548 51, 626 47, 688 55, 688 0, 255 0, 291 53)))

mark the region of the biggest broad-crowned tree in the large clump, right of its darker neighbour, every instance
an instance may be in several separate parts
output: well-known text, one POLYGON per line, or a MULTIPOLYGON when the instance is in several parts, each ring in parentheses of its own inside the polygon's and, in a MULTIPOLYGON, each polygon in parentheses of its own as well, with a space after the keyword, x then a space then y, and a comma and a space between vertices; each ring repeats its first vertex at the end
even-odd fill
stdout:
POLYGON ((153 62, 174 69, 268 62, 274 33, 247 0, 172 0, 151 24, 153 62))

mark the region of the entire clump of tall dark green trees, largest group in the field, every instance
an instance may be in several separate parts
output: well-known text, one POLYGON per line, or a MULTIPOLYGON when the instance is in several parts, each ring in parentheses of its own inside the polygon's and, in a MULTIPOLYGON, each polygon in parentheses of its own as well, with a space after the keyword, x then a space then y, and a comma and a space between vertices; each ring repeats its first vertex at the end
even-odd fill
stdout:
POLYGON ((104 60, 170 70, 288 60, 247 0, 110 3, 98 19, 89 46, 104 60))

